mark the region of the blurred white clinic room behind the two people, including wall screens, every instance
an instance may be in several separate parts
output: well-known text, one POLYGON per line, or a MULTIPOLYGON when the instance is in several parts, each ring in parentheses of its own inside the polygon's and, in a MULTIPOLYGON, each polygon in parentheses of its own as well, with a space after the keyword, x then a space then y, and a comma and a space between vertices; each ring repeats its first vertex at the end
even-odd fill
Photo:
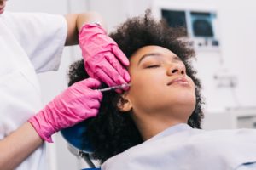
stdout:
MULTIPOLYGON (((206 129, 256 127, 255 7, 253 0, 11 0, 7 4, 7 10, 19 12, 96 11, 107 21, 108 32, 126 18, 144 14, 146 8, 170 26, 184 26, 183 38, 196 52, 206 129)), ((59 71, 39 75, 44 103, 67 88, 67 67, 80 58, 78 46, 67 47, 59 71)), ((54 141, 47 144, 49 170, 86 167, 67 150, 60 133, 54 141)))

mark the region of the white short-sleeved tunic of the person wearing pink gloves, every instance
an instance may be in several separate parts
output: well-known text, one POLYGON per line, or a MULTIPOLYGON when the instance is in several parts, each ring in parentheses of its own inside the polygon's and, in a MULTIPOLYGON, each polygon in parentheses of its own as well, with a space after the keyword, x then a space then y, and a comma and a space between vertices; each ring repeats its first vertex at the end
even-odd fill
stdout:
MULTIPOLYGON (((0 15, 0 139, 42 109, 36 73, 58 68, 66 37, 61 15, 0 15)), ((45 146, 17 169, 45 170, 45 146)))

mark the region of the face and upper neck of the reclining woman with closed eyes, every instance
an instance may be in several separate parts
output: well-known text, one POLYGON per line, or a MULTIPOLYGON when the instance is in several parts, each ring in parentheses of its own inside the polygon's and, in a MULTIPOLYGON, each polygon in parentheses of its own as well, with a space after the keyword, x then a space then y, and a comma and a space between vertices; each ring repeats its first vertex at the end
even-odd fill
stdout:
POLYGON ((167 48, 139 48, 130 59, 131 88, 125 98, 132 112, 155 115, 165 112, 187 122, 195 109, 195 84, 183 61, 167 48))

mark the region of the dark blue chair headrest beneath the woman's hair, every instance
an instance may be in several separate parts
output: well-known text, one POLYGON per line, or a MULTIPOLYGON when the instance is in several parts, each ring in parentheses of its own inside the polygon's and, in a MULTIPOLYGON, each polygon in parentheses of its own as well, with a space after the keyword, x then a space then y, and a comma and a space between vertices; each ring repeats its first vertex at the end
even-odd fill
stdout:
POLYGON ((90 168, 85 168, 83 170, 100 170, 100 168, 96 168, 94 163, 91 161, 91 153, 93 150, 90 146, 89 140, 85 139, 84 133, 86 133, 86 125, 84 122, 80 122, 73 127, 61 130, 63 138, 67 141, 67 149, 73 153, 74 156, 83 158, 89 165, 90 168))

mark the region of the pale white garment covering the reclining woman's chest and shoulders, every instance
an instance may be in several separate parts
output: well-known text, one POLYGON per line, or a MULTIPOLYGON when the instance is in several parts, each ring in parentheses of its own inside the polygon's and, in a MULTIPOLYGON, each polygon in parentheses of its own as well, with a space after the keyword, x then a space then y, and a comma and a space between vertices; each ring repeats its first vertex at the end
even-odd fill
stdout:
POLYGON ((179 124, 109 158, 102 170, 235 170, 249 162, 256 162, 255 129, 204 131, 179 124))

